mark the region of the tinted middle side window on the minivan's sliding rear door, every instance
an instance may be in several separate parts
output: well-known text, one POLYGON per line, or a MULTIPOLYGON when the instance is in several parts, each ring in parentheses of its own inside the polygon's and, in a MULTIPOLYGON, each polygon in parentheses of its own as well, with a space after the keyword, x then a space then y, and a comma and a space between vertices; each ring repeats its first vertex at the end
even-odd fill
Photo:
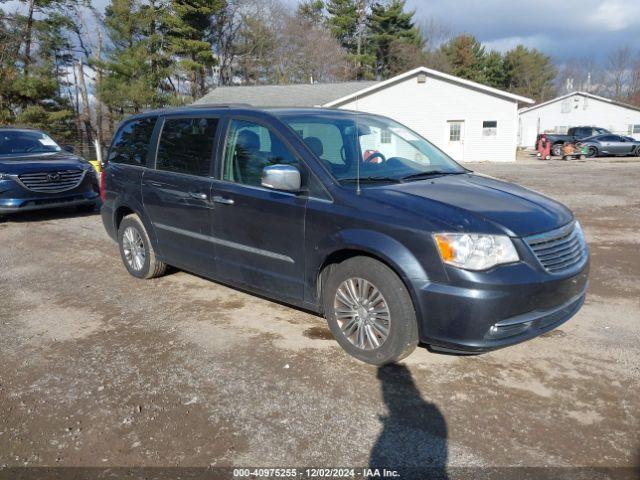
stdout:
POLYGON ((208 176, 217 118, 169 118, 158 142, 156 169, 208 176))

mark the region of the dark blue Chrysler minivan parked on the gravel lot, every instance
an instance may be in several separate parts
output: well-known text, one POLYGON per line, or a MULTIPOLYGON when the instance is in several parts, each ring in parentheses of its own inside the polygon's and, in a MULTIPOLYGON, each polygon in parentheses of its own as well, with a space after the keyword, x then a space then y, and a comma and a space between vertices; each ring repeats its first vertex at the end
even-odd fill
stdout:
POLYGON ((327 318, 373 364, 420 342, 478 353, 581 307, 588 250, 563 205, 461 167, 385 117, 190 107, 127 119, 102 219, 127 270, 166 265, 327 318))

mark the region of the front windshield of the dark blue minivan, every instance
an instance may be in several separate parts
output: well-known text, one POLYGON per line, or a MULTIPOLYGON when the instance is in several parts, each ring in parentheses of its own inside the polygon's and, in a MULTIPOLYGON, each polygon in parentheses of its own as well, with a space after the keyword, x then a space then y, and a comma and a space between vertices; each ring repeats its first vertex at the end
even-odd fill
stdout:
POLYGON ((286 114, 282 120, 341 183, 399 182, 467 170, 391 119, 357 113, 286 114))

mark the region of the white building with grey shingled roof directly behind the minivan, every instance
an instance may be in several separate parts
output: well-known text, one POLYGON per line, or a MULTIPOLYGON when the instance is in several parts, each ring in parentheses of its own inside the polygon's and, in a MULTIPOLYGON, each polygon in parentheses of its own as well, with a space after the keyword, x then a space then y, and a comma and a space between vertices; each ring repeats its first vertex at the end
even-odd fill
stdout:
POLYGON ((533 100, 419 67, 382 82, 217 88, 197 103, 332 107, 385 115, 454 159, 515 161, 518 106, 533 100))

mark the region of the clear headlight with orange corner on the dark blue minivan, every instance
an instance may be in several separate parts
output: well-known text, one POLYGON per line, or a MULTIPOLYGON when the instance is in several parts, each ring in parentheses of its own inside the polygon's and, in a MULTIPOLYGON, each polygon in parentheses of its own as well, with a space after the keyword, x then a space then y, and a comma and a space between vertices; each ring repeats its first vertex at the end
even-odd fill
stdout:
POLYGON ((436 233, 433 238, 444 263, 466 270, 486 270, 520 259, 505 235, 436 233))

